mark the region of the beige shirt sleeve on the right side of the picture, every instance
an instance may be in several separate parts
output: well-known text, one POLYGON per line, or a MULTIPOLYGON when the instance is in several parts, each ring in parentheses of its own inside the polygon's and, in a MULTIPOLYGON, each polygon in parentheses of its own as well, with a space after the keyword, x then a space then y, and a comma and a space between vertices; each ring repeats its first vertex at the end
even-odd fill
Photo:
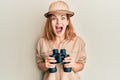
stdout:
POLYGON ((78 39, 78 52, 76 62, 86 63, 85 43, 82 39, 78 39))

